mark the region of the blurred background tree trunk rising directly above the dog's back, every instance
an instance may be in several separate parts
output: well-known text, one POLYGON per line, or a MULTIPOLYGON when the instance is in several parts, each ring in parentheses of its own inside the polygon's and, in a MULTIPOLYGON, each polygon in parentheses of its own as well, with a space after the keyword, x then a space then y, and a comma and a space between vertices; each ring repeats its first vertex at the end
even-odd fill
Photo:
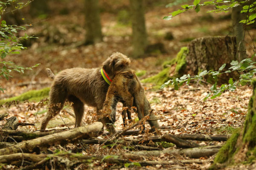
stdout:
POLYGON ((86 40, 85 44, 102 41, 99 16, 99 0, 84 0, 86 40))

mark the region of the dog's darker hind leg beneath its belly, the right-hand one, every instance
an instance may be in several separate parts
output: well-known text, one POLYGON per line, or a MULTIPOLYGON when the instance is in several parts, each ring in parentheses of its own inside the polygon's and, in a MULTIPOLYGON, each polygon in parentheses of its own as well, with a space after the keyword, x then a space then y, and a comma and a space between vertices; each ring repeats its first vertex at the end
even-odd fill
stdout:
POLYGON ((70 95, 67 98, 70 102, 73 102, 73 109, 76 115, 76 124, 75 127, 81 126, 81 122, 84 116, 84 103, 81 102, 79 98, 76 96, 70 95))

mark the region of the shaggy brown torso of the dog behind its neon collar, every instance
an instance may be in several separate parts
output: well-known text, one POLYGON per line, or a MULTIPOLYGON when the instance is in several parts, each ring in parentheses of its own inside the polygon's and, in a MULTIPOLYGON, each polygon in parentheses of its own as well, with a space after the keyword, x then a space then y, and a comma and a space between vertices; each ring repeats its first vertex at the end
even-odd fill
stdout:
POLYGON ((87 105, 101 108, 108 91, 99 68, 69 68, 55 76, 52 88, 67 91, 87 105))

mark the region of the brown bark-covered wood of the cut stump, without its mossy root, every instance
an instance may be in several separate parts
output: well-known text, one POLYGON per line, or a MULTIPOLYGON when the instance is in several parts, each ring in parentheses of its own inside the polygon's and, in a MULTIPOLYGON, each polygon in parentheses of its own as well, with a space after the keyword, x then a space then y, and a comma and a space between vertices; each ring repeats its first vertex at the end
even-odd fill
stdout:
MULTIPOLYGON (((232 60, 239 60, 236 58, 236 37, 197 38, 190 42, 188 49, 184 74, 198 75, 204 70, 218 71, 224 63, 229 68, 232 60)), ((228 77, 237 78, 237 74, 222 74, 218 76, 218 80, 227 82, 228 77)), ((211 78, 207 77, 207 81, 211 82, 211 78)))

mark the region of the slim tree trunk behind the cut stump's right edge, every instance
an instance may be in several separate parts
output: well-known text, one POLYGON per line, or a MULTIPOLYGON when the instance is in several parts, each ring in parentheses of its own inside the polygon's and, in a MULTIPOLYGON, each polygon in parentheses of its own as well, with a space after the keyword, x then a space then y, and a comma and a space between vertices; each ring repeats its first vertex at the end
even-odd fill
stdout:
POLYGON ((241 10, 243 9, 243 6, 237 6, 233 8, 232 10, 232 25, 234 28, 234 36, 236 36, 236 42, 237 42, 237 48, 236 48, 236 58, 241 61, 242 59, 245 59, 246 56, 246 49, 244 45, 244 24, 239 23, 242 20, 241 10))

